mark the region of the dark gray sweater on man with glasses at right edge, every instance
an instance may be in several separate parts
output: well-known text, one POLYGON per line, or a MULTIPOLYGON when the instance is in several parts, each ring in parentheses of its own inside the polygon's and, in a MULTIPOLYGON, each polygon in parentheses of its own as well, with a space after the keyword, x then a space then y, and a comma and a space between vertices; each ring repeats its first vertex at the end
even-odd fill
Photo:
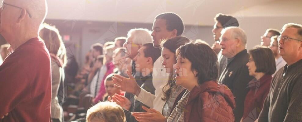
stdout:
POLYGON ((258 122, 302 122, 302 60, 274 76, 258 122))

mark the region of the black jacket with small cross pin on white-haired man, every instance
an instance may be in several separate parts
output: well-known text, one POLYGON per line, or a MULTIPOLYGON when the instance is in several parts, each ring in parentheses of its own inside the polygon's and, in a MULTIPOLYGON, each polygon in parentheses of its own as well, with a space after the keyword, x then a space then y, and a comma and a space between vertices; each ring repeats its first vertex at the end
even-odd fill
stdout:
POLYGON ((219 78, 219 83, 227 85, 235 96, 236 108, 234 109, 235 122, 239 122, 243 115, 244 100, 249 91, 247 84, 253 79, 249 76, 246 63, 249 61, 249 54, 243 50, 233 58, 228 59, 227 67, 219 78))

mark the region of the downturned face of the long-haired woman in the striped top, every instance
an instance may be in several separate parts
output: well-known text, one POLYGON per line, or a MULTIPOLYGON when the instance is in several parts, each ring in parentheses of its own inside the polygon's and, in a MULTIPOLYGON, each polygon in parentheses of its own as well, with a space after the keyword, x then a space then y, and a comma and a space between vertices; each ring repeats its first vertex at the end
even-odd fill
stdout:
POLYGON ((173 73, 173 65, 176 63, 175 54, 163 47, 162 58, 162 65, 165 67, 166 73, 173 73))

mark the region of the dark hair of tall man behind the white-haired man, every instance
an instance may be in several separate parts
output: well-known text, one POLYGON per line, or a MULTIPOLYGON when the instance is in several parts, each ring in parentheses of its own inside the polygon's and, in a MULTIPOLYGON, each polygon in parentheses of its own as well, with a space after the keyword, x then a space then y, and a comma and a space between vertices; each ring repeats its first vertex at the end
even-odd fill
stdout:
POLYGON ((236 27, 239 26, 239 23, 235 17, 230 15, 224 15, 222 13, 218 13, 214 17, 214 20, 216 22, 219 22, 223 28, 231 27, 231 26, 236 26, 236 27))

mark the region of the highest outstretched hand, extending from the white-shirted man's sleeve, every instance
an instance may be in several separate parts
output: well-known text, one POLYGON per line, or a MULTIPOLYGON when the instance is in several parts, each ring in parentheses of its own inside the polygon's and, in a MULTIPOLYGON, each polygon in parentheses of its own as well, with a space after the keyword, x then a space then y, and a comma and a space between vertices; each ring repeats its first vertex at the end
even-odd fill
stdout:
POLYGON ((114 75, 112 77, 115 84, 114 87, 126 92, 137 94, 137 92, 140 91, 140 86, 137 85, 135 78, 131 75, 129 70, 127 70, 127 75, 129 78, 121 75, 114 75))

